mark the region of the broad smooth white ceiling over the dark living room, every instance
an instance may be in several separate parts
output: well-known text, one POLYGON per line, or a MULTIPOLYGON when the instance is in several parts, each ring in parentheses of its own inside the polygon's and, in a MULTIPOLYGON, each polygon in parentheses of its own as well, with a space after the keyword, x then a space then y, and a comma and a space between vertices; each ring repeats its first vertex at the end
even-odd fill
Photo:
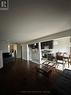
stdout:
POLYGON ((26 42, 71 29, 71 0, 9 0, 0 11, 0 40, 26 42))

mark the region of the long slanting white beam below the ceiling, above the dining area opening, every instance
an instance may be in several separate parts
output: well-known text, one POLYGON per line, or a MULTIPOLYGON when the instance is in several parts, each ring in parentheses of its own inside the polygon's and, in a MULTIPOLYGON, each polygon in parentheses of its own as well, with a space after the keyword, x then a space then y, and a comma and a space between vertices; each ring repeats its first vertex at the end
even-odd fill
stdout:
POLYGON ((31 41, 28 41, 26 44, 38 43, 42 41, 48 41, 48 40, 58 39, 62 37, 69 37, 69 36, 71 36, 71 30, 67 30, 67 31, 51 34, 48 36, 44 36, 35 40, 31 40, 31 41))

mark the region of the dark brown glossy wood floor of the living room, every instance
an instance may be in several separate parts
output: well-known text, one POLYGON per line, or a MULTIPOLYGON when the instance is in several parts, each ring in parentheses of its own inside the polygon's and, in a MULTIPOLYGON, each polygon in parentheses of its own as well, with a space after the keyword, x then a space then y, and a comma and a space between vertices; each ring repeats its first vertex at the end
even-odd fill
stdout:
POLYGON ((19 95, 20 93, 48 93, 55 84, 60 71, 52 69, 48 75, 37 72, 38 64, 16 60, 0 70, 0 93, 19 95))

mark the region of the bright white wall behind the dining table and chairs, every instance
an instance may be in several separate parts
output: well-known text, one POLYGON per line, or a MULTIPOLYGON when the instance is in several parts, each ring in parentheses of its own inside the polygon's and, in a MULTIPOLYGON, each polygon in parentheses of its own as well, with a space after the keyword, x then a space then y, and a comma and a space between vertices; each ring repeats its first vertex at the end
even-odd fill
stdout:
POLYGON ((55 39, 53 45, 53 53, 67 52, 68 54, 70 54, 69 44, 70 44, 70 37, 55 39))

